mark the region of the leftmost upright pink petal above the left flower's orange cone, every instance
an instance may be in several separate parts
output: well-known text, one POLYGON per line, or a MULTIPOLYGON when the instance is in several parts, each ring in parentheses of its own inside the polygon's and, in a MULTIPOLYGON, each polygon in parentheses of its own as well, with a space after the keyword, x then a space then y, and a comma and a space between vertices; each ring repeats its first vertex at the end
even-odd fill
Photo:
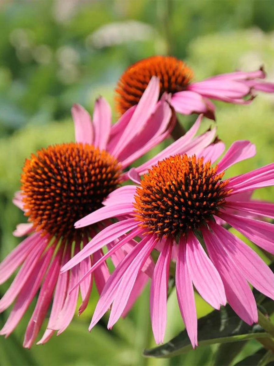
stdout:
POLYGON ((73 104, 71 113, 75 128, 75 141, 92 145, 94 132, 90 114, 80 104, 73 104))

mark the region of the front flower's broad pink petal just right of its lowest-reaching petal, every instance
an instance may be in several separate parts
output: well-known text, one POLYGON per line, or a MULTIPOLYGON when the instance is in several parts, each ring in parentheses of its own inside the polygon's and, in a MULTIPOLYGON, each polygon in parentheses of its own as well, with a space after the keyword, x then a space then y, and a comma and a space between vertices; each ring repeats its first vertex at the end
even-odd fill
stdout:
POLYGON ((186 245, 186 262, 191 280, 202 296, 215 309, 225 305, 224 285, 203 247, 193 233, 189 233, 186 245))

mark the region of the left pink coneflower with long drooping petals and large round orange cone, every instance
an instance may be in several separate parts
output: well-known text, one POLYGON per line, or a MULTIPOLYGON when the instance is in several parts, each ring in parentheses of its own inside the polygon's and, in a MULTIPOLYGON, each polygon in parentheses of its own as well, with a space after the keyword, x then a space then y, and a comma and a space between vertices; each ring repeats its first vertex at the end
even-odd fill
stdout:
MULTIPOLYGON (((37 337, 52 300, 47 329, 39 343, 45 343, 54 330, 60 334, 66 329, 75 313, 79 290, 83 300, 79 313, 84 311, 93 278, 98 292, 102 291, 109 277, 106 264, 81 283, 73 294, 69 295, 68 291, 103 256, 102 250, 68 273, 60 275, 60 267, 111 223, 103 220, 76 230, 75 221, 102 207, 103 199, 127 179, 123 169, 169 135, 172 111, 164 98, 158 100, 159 81, 152 78, 138 105, 129 109, 113 126, 110 107, 102 97, 95 103, 93 121, 84 108, 74 105, 76 142, 49 146, 26 160, 21 191, 16 194, 14 203, 24 211, 29 223, 19 224, 14 234, 29 236, 0 264, 0 283, 19 269, 0 300, 0 312, 14 302, 1 335, 8 336, 15 329, 40 287, 24 337, 24 347, 28 348, 37 337)), ((128 243, 128 250, 132 243, 135 244, 128 243)), ((114 254, 114 265, 125 253, 124 248, 114 254)), ((146 280, 144 274, 137 287, 141 288, 146 280)), ((129 300, 129 306, 134 302, 134 296, 129 300)))

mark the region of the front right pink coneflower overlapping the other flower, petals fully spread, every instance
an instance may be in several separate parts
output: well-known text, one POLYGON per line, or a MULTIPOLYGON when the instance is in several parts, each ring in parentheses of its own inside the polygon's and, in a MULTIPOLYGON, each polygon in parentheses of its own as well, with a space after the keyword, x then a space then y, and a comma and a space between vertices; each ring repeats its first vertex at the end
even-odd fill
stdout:
MULTIPOLYGON (((114 252, 130 238, 141 238, 107 281, 90 329, 111 304, 108 328, 119 319, 153 249, 160 251, 150 296, 152 329, 157 343, 163 342, 166 326, 171 258, 176 260, 177 298, 193 347, 198 344, 193 286, 215 309, 228 302, 248 324, 258 321, 256 302, 248 283, 274 299, 274 275, 258 254, 222 226, 223 222, 228 223, 274 254, 274 225, 254 218, 274 218, 274 204, 250 201, 247 195, 274 184, 274 163, 223 179, 231 165, 254 154, 255 147, 250 142, 236 141, 215 166, 212 163, 220 156, 218 149, 207 148, 203 155, 170 156, 152 166, 138 186, 118 188, 109 195, 105 207, 76 223, 77 228, 85 227, 117 214, 122 207, 131 214, 128 219, 101 231, 62 270, 72 268, 111 240, 119 239, 112 249, 114 252), (121 239, 124 234, 126 237, 121 239)), ((87 275, 99 264, 100 261, 87 275)))

